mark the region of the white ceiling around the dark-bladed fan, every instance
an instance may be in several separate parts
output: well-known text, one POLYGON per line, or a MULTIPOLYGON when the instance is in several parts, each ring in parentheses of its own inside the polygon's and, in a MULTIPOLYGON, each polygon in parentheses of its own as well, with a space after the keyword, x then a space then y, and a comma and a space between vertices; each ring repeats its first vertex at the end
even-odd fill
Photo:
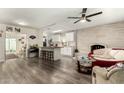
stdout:
POLYGON ((87 15, 102 11, 103 14, 91 17, 92 22, 73 24, 75 19, 69 16, 80 16, 81 8, 0 8, 0 22, 19 25, 23 22, 27 27, 42 31, 69 31, 91 26, 124 20, 124 8, 88 8, 87 15))

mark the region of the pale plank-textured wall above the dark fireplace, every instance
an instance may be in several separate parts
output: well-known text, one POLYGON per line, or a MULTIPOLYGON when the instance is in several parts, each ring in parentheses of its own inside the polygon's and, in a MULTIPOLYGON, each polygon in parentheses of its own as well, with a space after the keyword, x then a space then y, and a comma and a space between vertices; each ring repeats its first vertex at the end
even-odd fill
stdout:
POLYGON ((124 48, 124 22, 86 28, 77 32, 80 52, 88 53, 90 45, 95 43, 104 44, 109 48, 124 48))

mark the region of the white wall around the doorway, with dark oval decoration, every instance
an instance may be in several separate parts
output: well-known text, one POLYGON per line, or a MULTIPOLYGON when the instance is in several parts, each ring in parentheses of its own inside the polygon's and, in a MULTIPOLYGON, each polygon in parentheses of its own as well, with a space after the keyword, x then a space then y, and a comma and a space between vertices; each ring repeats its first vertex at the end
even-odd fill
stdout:
MULTIPOLYGON (((0 37, 0 60, 5 58, 5 31, 6 31, 6 26, 11 26, 11 27, 19 27, 19 26, 12 26, 12 25, 6 25, 6 24, 0 24, 0 30, 4 31, 4 35, 1 38, 0 37)), ((39 47, 42 46, 42 37, 43 37, 43 33, 40 30, 37 29, 33 29, 33 28, 26 28, 26 27, 19 27, 21 28, 21 34, 25 34, 26 35, 26 39, 27 39, 27 48, 30 45, 34 45, 34 44, 38 44, 39 47), (36 39, 30 39, 29 36, 30 35, 35 35, 36 39)))

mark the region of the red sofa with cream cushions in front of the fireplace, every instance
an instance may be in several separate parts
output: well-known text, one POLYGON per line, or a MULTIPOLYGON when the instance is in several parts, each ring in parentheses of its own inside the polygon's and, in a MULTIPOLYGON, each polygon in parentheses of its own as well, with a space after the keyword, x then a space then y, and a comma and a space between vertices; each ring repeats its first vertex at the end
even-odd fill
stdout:
POLYGON ((110 67, 119 62, 124 62, 124 49, 105 48, 97 49, 88 54, 90 59, 94 59, 92 66, 110 67))

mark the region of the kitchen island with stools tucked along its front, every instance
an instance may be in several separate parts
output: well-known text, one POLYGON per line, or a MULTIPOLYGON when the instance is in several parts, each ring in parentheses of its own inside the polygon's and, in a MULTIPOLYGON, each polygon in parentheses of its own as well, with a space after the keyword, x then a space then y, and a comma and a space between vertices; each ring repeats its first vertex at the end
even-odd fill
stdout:
POLYGON ((61 59, 61 47, 41 47, 39 57, 43 60, 57 61, 61 59))

